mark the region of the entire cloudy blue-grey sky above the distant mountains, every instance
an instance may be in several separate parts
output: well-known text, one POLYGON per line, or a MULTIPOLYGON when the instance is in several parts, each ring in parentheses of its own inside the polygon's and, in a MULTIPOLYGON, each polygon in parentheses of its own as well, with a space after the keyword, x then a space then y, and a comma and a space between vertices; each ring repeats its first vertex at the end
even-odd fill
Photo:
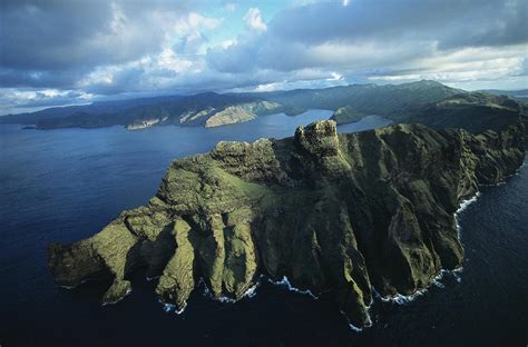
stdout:
POLYGON ((528 1, 0 1, 0 115, 421 79, 528 88, 528 1))

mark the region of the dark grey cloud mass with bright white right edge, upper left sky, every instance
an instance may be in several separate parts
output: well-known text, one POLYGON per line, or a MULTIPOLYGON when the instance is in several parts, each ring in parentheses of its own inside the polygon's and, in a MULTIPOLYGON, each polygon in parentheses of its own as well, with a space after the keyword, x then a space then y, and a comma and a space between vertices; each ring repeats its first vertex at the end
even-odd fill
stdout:
POLYGON ((185 1, 3 1, 0 88, 82 89, 102 95, 156 88, 199 65, 222 18, 185 1))

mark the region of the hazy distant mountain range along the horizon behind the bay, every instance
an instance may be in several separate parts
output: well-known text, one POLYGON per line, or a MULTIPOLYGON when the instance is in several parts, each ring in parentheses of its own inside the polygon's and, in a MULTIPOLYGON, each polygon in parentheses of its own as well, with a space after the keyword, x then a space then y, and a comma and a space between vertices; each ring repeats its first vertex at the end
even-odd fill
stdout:
POLYGON ((50 108, 32 113, 0 117, 0 123, 21 123, 37 129, 101 128, 130 130, 153 126, 218 127, 284 112, 295 116, 307 109, 335 111, 338 123, 368 115, 394 122, 421 122, 433 128, 481 131, 503 127, 519 116, 526 122, 528 90, 470 92, 436 81, 402 85, 351 85, 324 89, 272 92, 215 93, 95 102, 50 108))

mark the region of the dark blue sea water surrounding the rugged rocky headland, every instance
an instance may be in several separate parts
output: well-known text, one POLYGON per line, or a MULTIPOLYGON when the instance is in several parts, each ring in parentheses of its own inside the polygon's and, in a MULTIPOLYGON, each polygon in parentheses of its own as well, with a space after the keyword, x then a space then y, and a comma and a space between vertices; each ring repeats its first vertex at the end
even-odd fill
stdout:
MULTIPOLYGON (((155 281, 101 306, 108 286, 53 285, 47 245, 99 231, 145 205, 172 160, 219 140, 292 136, 329 111, 275 115, 223 128, 21 130, 0 126, 0 345, 8 346, 526 346, 528 343, 528 168, 486 188, 459 212, 463 271, 398 305, 375 300, 361 333, 327 297, 314 300, 263 281, 253 298, 221 304, 195 290, 182 315, 165 313, 155 281)), ((340 127, 388 125, 381 117, 340 127)))

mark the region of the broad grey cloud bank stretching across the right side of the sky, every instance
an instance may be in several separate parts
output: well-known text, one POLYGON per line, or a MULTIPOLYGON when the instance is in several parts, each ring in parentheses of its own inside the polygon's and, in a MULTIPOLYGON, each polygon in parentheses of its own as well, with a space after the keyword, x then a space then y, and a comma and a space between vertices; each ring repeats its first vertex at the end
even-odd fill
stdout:
POLYGON ((264 33, 209 49, 208 62, 223 72, 292 78, 310 69, 352 81, 508 79, 524 66, 527 13, 521 0, 309 3, 277 13, 264 33))

